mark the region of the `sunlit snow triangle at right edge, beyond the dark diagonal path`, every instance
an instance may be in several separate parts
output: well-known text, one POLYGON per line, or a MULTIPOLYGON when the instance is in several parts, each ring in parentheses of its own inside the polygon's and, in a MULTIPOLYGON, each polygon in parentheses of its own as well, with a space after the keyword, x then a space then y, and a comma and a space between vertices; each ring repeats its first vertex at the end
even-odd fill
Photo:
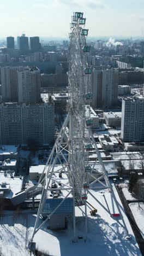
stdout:
POLYGON ((138 228, 141 230, 141 235, 144 238, 144 203, 129 203, 129 207, 135 218, 138 228))

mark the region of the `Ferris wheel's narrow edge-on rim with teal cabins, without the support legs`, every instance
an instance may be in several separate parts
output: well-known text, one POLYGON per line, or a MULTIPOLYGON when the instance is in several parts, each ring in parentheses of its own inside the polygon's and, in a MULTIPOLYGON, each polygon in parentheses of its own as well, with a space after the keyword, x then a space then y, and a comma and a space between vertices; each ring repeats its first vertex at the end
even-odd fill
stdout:
POLYGON ((86 120, 86 104, 92 100, 91 67, 88 66, 90 47, 86 44, 88 30, 85 29, 86 18, 83 13, 74 13, 71 17, 70 56, 69 56, 69 152, 71 168, 71 184, 74 179, 75 203, 79 204, 83 196, 83 184, 86 182, 85 172, 85 127, 92 120, 86 120))

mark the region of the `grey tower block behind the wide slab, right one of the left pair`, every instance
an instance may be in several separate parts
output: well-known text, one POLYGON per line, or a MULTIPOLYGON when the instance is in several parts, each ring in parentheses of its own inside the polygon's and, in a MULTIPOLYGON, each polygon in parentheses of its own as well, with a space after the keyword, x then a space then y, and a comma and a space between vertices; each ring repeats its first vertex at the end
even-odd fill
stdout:
POLYGON ((37 67, 27 67, 17 72, 19 103, 40 102, 40 70, 37 67))

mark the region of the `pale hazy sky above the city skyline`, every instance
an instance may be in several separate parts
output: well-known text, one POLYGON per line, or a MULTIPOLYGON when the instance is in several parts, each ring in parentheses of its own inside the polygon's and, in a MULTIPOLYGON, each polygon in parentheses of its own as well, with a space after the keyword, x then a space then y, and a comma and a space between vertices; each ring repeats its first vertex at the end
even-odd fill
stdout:
POLYGON ((87 18, 89 36, 144 36, 144 0, 1 0, 0 37, 63 37, 73 11, 87 18))

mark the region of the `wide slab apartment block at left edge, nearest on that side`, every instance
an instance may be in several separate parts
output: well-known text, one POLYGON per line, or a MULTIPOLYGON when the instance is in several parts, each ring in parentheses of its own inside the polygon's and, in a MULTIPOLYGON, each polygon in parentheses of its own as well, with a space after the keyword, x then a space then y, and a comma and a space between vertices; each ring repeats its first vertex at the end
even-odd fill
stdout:
POLYGON ((0 143, 51 143, 54 139, 55 106, 41 104, 0 104, 0 143))

